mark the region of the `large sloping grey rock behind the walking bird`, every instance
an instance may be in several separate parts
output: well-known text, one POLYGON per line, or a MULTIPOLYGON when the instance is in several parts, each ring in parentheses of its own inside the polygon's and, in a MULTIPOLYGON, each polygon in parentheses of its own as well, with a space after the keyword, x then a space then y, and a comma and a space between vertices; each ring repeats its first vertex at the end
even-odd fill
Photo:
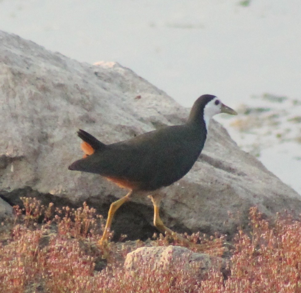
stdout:
MULTIPOLYGON (((5 32, 0 32, 0 86, 0 195, 10 204, 20 196, 56 205, 87 201, 106 217, 110 202, 126 190, 98 175, 68 170, 82 156, 76 130, 112 143, 181 124, 189 113, 117 63, 79 63, 5 32)), ((215 121, 193 169, 164 193, 162 218, 178 231, 233 235, 253 205, 269 217, 283 209, 301 213, 299 194, 241 151, 215 121)), ((130 238, 151 236, 152 215, 148 198, 133 198, 112 228, 130 238)))

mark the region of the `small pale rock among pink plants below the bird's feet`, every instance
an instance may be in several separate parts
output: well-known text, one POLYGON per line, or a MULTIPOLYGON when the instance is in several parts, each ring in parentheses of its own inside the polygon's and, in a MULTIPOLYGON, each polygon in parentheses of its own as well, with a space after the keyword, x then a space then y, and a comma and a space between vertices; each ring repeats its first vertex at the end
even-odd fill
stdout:
POLYGON ((142 266, 148 266, 150 271, 183 270, 187 273, 197 271, 202 279, 210 269, 222 270, 225 262, 222 258, 205 253, 191 252, 181 246, 140 247, 126 255, 124 267, 128 274, 134 274, 142 266))

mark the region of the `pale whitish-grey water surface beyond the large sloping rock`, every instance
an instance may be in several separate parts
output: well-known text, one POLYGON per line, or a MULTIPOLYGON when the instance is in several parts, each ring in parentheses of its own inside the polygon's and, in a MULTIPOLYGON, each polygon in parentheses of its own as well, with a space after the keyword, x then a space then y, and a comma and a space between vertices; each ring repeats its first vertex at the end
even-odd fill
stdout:
POLYGON ((211 93, 240 109, 217 120, 299 193, 300 19, 298 0, 0 0, 1 30, 79 61, 117 61, 187 107, 211 93))

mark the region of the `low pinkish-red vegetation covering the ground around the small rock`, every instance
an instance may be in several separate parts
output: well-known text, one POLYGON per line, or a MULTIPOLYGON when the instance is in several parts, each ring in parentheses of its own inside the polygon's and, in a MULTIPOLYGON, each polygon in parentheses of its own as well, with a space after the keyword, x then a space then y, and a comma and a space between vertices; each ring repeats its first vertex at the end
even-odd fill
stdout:
MULTIPOLYGON (((227 254, 227 276, 212 270, 199 280, 197 271, 181 271, 180 265, 167 271, 142 259, 139 269, 128 273, 126 254, 144 243, 98 247, 103 219, 85 203, 59 210, 34 198, 22 201, 14 222, 1 228, 0 292, 301 292, 301 223, 288 214, 269 223, 252 207, 251 233, 238 230, 227 254)), ((209 254, 225 250, 224 237, 185 237, 209 254)), ((162 235, 151 244, 181 245, 162 235)))

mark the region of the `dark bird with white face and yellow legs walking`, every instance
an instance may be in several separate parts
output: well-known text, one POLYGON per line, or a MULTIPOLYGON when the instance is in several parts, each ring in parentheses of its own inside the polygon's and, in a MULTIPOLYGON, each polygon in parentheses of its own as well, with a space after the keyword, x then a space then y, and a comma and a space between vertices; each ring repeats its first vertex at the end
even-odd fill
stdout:
MULTIPOLYGON (((154 206, 154 226, 163 234, 175 234, 159 216, 162 195, 158 191, 189 172, 204 147, 210 119, 219 113, 237 115, 218 97, 206 94, 195 101, 185 124, 166 126, 113 144, 104 144, 78 130, 84 156, 68 169, 99 174, 128 190, 110 205, 99 245, 108 240, 116 210, 133 194, 147 195, 154 206)), ((180 235, 179 238, 187 242, 180 235)))

